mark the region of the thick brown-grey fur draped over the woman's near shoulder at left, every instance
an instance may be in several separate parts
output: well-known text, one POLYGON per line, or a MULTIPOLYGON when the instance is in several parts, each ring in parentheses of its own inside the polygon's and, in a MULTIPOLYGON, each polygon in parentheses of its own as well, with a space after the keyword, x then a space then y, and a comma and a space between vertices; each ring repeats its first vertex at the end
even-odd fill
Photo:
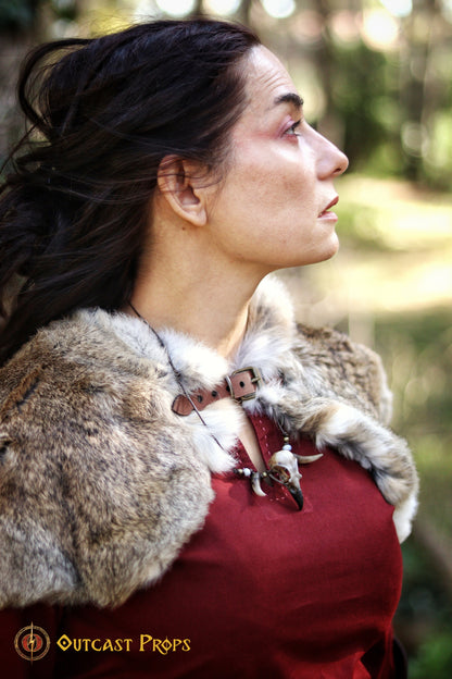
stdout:
POLYGON ((117 605, 202 524, 209 470, 140 332, 80 312, 0 371, 0 607, 117 605))

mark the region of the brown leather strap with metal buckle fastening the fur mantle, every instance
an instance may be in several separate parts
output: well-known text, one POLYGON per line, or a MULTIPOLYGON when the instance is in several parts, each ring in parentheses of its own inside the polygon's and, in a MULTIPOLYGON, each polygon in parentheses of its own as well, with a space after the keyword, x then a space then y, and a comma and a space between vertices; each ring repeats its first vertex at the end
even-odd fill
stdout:
POLYGON ((172 410, 177 415, 190 415, 193 410, 203 410, 206 406, 222 398, 234 398, 238 403, 255 398, 261 373, 256 368, 235 370, 212 390, 202 388, 188 395, 179 394, 173 402, 172 410))

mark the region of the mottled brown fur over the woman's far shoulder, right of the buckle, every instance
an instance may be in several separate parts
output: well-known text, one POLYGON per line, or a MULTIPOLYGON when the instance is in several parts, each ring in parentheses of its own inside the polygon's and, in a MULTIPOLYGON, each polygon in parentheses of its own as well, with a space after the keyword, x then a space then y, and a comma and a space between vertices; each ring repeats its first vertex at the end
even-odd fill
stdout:
POLYGON ((297 326, 294 350, 339 397, 354 400, 388 423, 392 396, 378 354, 331 328, 297 326))

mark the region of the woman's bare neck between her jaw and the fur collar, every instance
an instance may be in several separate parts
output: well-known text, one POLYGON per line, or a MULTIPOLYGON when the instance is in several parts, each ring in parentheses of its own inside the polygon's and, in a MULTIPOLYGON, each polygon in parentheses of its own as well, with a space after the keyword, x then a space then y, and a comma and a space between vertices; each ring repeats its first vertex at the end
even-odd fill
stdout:
POLYGON ((251 297, 268 273, 216 243, 213 226, 193 227, 160 198, 130 301, 159 332, 188 334, 222 356, 243 337, 251 297))

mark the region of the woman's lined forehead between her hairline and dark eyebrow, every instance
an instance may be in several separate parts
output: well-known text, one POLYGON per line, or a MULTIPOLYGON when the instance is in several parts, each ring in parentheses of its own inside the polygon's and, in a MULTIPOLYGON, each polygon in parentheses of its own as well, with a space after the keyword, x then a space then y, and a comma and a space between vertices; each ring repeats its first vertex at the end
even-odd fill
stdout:
POLYGON ((249 106, 271 110, 278 97, 297 89, 279 59, 263 46, 254 47, 246 65, 249 106))

